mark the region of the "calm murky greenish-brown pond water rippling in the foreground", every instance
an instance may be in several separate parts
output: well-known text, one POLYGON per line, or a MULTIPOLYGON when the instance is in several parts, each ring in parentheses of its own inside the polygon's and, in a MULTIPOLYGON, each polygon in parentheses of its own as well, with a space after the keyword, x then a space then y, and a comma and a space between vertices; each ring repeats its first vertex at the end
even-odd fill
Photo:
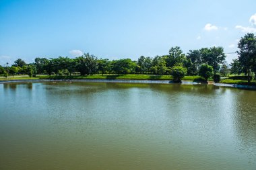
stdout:
POLYGON ((0 169, 256 169, 256 91, 0 84, 0 169))

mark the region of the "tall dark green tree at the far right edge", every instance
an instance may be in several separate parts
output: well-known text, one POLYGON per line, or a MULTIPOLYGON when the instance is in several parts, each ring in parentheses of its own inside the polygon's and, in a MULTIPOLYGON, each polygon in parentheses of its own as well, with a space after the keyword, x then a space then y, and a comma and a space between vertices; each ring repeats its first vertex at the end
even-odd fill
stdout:
POLYGON ((256 37, 253 33, 248 33, 238 42, 237 52, 238 61, 241 67, 246 71, 248 76, 248 83, 251 82, 251 71, 256 65, 256 37))

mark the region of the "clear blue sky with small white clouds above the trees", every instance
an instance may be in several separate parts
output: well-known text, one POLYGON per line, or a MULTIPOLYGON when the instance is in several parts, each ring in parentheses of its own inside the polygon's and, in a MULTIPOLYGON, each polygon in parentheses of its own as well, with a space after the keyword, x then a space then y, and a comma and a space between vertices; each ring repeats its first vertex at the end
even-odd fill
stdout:
MULTIPOLYGON (((256 33, 256 1, 0 0, 0 65, 17 58, 131 58, 223 46, 256 33)), ((236 54, 228 54, 228 62, 236 54)))

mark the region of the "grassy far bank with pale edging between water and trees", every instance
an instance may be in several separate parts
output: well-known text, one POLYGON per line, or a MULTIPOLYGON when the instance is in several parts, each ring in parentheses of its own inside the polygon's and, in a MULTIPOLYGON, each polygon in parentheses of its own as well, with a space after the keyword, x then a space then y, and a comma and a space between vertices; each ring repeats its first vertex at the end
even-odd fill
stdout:
MULTIPOLYGON (((169 84, 175 83, 172 81, 171 75, 90 75, 90 76, 55 76, 55 75, 39 75, 38 77, 0 77, 0 83, 16 83, 16 82, 42 82, 42 81, 67 81, 71 82, 105 82, 105 83, 158 83, 158 84, 169 84)), ((200 85, 200 84, 212 84, 218 87, 234 87, 239 89, 256 89, 255 85, 246 84, 235 84, 231 81, 228 83, 214 83, 213 81, 201 80, 199 76, 185 76, 182 79, 183 85, 200 85)), ((241 81, 240 81, 241 82, 241 81)), ((243 81, 244 82, 244 81, 243 81)))

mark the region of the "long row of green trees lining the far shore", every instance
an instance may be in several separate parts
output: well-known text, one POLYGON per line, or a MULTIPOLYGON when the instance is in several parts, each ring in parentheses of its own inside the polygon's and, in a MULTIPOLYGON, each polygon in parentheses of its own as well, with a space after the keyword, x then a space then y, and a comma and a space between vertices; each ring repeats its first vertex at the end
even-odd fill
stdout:
MULTIPOLYGON (((167 55, 140 56, 137 60, 123 58, 108 60, 97 58, 86 53, 77 58, 59 56, 58 58, 35 58, 33 63, 27 64, 21 58, 15 60, 11 67, 0 67, 0 74, 17 75, 80 75, 94 74, 150 74, 172 75, 181 80, 185 75, 201 75, 207 79, 213 75, 231 73, 245 73, 251 77, 256 73, 256 38, 254 34, 246 34, 238 42, 240 49, 238 58, 231 65, 225 61, 224 48, 211 47, 189 50, 187 54, 179 46, 170 48, 167 55), (230 67, 230 69, 229 69, 230 67)), ((250 79, 251 80, 251 79, 250 79)))

